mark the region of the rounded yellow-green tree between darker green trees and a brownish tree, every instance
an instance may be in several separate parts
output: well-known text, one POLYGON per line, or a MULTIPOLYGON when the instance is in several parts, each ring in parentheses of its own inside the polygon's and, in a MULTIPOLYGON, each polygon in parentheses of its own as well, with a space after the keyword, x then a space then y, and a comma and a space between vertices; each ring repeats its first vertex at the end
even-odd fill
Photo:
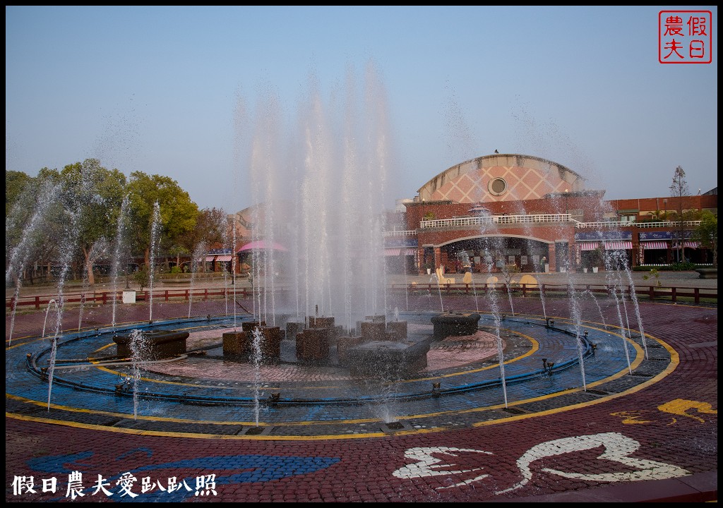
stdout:
POLYGON ((198 206, 187 191, 168 176, 131 173, 129 183, 129 236, 132 247, 145 252, 145 264, 150 270, 150 236, 155 203, 161 218, 161 245, 166 249, 178 245, 179 239, 192 231, 198 217, 198 206))

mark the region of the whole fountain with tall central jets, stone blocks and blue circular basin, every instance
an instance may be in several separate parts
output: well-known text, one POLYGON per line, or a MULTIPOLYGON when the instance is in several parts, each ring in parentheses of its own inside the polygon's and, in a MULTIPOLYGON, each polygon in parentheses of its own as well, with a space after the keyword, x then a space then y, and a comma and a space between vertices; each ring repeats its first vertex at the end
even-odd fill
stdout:
MULTIPOLYGON (((235 283, 232 319, 228 316, 228 304, 220 317, 209 315, 207 319, 194 318, 192 298, 189 298, 185 319, 172 322, 154 320, 152 271, 147 324, 136 323, 116 330, 114 301, 114 330, 98 333, 79 331, 66 335, 63 337, 65 340, 61 341, 60 330, 56 327, 51 350, 40 353, 33 351, 28 361, 28 371, 35 372, 35 363, 40 358, 45 360, 48 353, 52 366, 58 348, 74 353, 72 356, 66 355, 65 361, 69 361, 67 358, 89 356, 90 346, 84 343, 88 338, 93 339, 93 350, 108 345, 112 340, 116 344, 116 356, 131 358, 132 361, 132 373, 124 378, 129 379, 124 383, 132 384, 132 390, 121 388, 114 396, 117 397, 117 405, 122 408, 124 397, 132 391, 134 418, 137 418, 139 412, 160 412, 171 404, 221 408, 232 405, 239 408, 234 413, 234 423, 238 425, 239 422, 252 421, 254 428, 261 431, 280 423, 287 427, 294 426, 294 422, 304 421, 304 411, 315 413, 322 407, 331 415, 329 421, 353 420, 354 423, 340 423, 339 427, 347 426, 353 432, 359 432, 359 422, 371 418, 372 414, 381 415, 378 418, 389 423, 397 421, 403 414, 414 415, 414 403, 418 400, 432 399, 441 408, 442 405, 457 404, 456 394, 482 394, 487 393, 489 388, 492 388, 489 391, 495 391, 495 395, 490 398, 499 404, 497 390, 501 387, 504 405, 508 408, 508 389, 511 391, 513 387, 512 383, 508 387, 505 369, 509 368, 513 373, 511 377, 515 379, 515 384, 520 379, 539 376, 541 371, 537 358, 530 358, 529 363, 526 360, 529 347, 505 343, 502 330, 502 322, 505 321, 504 337, 513 332, 534 335, 542 351, 548 348, 547 353, 544 353, 548 355, 544 374, 555 371, 555 376, 565 379, 568 386, 578 385, 578 380, 571 382, 562 371, 569 364, 583 363, 590 354, 586 342, 581 340, 580 312, 573 312, 575 354, 565 356, 555 350, 558 357, 553 358, 550 351, 554 350, 552 344, 555 341, 561 342, 560 329, 549 326, 549 322, 547 326, 540 322, 522 324, 513 307, 510 277, 506 277, 505 288, 510 301, 510 314, 516 319, 506 319, 502 315, 498 294, 498 288, 502 285, 496 284, 487 290, 488 312, 479 312, 474 283, 475 312, 445 312, 441 274, 435 274, 430 279, 430 282, 434 280, 437 284, 440 309, 436 309, 435 305, 433 311, 407 311, 400 316, 398 308, 395 308, 393 319, 387 318, 392 300, 386 290, 382 231, 385 226, 385 182, 390 155, 383 90, 371 70, 367 74, 369 80, 365 83, 364 93, 361 94, 367 102, 356 98, 354 79, 347 83, 346 100, 333 102, 333 106, 341 108, 325 105, 320 91, 312 86, 308 105, 299 112, 299 131, 291 139, 285 139, 282 135, 283 132, 289 132, 282 128, 283 108, 278 106, 271 95, 260 103, 257 119, 249 122, 256 126, 253 130, 255 137, 249 140, 249 146, 252 147, 249 149, 252 153, 249 173, 253 190, 253 222, 257 225, 253 240, 261 248, 252 251, 253 311, 241 318, 241 330, 236 328, 235 283), (466 339, 470 344, 473 343, 476 340, 474 337, 480 332, 479 321, 483 314, 484 319, 492 319, 494 323, 494 333, 490 335, 495 341, 499 371, 491 372, 490 369, 482 368, 479 358, 470 362, 474 363, 475 369, 463 365, 453 373, 439 365, 432 365, 429 359, 432 348, 453 342, 457 337, 473 337, 466 339), (228 327, 234 330, 224 330, 228 327), (197 367, 194 361, 186 358, 192 353, 188 341, 193 337, 185 330, 194 330, 195 333, 201 329, 215 334, 213 340, 209 339, 208 343, 203 344, 209 350, 203 361, 223 361, 225 368, 234 369, 241 380, 234 383, 199 382, 182 388, 173 386, 173 383, 146 384, 145 380, 154 375, 162 378, 168 375, 166 372, 173 372, 171 369, 176 362, 184 369, 197 367), (506 366, 505 353, 508 353, 508 357, 516 354, 515 358, 519 361, 506 366), (275 386, 271 391, 264 374, 279 374, 290 366, 294 372, 312 373, 317 377, 309 374, 311 382, 304 377, 294 384, 286 383, 286 379, 279 376, 275 379, 283 379, 284 382, 278 382, 281 389, 275 386), (143 377, 140 374, 141 367, 144 369, 143 377), (152 388, 140 392, 138 387, 142 379, 144 387, 150 385, 152 388), (444 379, 444 382, 439 379, 444 379), (143 398, 157 401, 158 408, 140 408, 139 399, 143 398), (262 415, 268 421, 261 421, 262 415)), ((152 264, 158 252, 161 215, 158 202, 153 212, 150 236, 152 264)), ((482 228, 484 235, 494 236, 495 233, 493 225, 482 228)), ((122 236, 119 223, 116 259, 121 252, 122 236)), ((234 231, 234 247, 235 240, 234 231)), ((489 240, 485 246, 488 249, 485 257, 490 259, 487 267, 492 276, 492 253, 496 254, 502 246, 499 239, 489 240)), ((197 272, 195 265, 205 256, 205 250, 205 246, 199 246, 193 253, 192 288, 197 272)), ((235 263, 235 256, 233 259, 235 263)), ((495 267, 505 270, 504 263, 495 267)), ((115 280, 117 267, 114 273, 115 280)), ((506 272, 506 275, 509 273, 506 272)), ((542 288, 540 294, 543 298, 542 288)), ((429 296, 431 308, 431 293, 429 296)), ((61 290, 57 301, 58 308, 62 309, 61 290)), ((544 311, 544 298, 542 302, 544 311)), ((404 304, 408 309, 407 294, 404 304)), ((547 311, 544 311, 544 315, 547 318, 547 311)), ((606 337, 596 337, 596 340, 603 344, 606 337)), ((106 365, 111 366, 112 360, 106 359, 106 365)), ((487 358, 484 360, 487 361, 487 358)), ((628 359, 628 368, 629 365, 628 359)), ((616 363, 615 366, 619 365, 616 363)), ((76 368, 82 370, 82 367, 76 368)), ((608 372, 602 367, 597 369, 590 375, 596 380, 604 379, 608 372)), ((80 374, 72 369, 64 369, 63 372, 61 381, 64 389, 85 389, 82 381, 75 379, 80 378, 80 374)), ((202 367, 198 367, 197 373, 199 377, 207 375, 202 367)), ((49 408, 53 369, 49 369, 48 374, 49 408)), ((108 391, 113 392, 111 387, 116 381, 108 382, 107 377, 103 377, 106 374, 100 373, 89 384, 103 396, 106 393, 103 383, 107 384, 108 391)), ((583 371, 583 388, 585 384, 583 371)), ((545 389, 555 393, 555 387, 552 386, 541 387, 540 392, 545 389)), ((515 392, 514 397, 516 399, 513 400, 518 400, 520 392, 515 392)), ((95 404, 90 400, 84 403, 95 404)), ((469 405, 467 401, 460 403, 469 405)), ((148 426, 154 424, 153 421, 144 423, 148 426)), ((400 429, 407 431, 408 427, 401 423, 400 429)), ((312 431, 321 432, 318 429, 312 431)), ((238 433, 239 429, 236 428, 234 432, 238 433)))

